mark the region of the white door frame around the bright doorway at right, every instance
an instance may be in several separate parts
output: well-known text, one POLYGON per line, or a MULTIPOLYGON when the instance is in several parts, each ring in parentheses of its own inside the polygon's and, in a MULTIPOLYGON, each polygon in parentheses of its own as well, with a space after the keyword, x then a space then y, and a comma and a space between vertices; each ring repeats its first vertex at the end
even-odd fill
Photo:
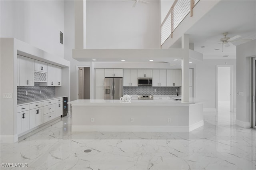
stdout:
POLYGON ((218 112, 218 68, 230 67, 230 112, 234 112, 234 66, 233 65, 216 65, 216 112, 218 112))

